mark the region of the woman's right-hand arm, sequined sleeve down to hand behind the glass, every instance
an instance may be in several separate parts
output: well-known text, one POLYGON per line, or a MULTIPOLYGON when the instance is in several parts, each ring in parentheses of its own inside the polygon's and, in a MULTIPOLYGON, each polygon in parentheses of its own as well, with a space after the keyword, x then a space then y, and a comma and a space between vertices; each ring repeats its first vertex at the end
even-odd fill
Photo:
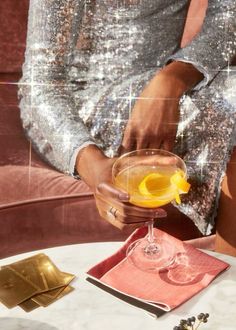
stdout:
POLYGON ((235 14, 235 0, 209 0, 200 34, 168 59, 169 64, 154 76, 136 101, 125 129, 122 153, 139 148, 172 149, 180 97, 191 88, 206 85, 233 59, 235 14))

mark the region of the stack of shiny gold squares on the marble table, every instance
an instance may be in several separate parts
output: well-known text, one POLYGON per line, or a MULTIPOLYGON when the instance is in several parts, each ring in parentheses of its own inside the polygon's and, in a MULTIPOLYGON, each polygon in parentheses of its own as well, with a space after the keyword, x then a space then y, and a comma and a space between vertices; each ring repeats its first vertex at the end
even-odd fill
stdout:
POLYGON ((43 253, 0 267, 0 302, 30 312, 73 291, 73 274, 61 272, 43 253))

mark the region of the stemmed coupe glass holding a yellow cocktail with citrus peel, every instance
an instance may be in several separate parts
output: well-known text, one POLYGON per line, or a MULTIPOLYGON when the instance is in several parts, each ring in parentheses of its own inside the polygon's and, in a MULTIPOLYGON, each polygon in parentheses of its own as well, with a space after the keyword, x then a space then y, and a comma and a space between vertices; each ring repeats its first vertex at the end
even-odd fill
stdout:
MULTIPOLYGON (((119 157, 112 171, 116 187, 129 193, 131 204, 158 208, 187 193, 189 183, 184 161, 177 155, 159 149, 141 149, 119 157)), ((156 271, 175 261, 175 249, 167 239, 153 234, 154 219, 148 222, 148 235, 133 242, 127 258, 138 268, 156 271)))

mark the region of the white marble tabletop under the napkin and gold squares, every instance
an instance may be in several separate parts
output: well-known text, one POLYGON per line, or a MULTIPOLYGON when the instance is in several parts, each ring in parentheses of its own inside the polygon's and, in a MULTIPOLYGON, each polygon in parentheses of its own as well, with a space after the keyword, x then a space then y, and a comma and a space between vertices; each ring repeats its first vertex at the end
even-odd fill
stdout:
MULTIPOLYGON (((236 258, 215 254, 231 264, 208 288, 179 308, 158 319, 130 306, 88 283, 86 271, 113 253, 121 243, 93 243, 42 250, 56 265, 77 275, 74 292, 47 308, 25 313, 19 307, 8 310, 0 305, 1 330, 171 330, 181 318, 209 313, 200 329, 236 329, 236 258)), ((37 251, 38 252, 38 251, 37 251)), ((0 266, 36 254, 0 260, 0 266)))

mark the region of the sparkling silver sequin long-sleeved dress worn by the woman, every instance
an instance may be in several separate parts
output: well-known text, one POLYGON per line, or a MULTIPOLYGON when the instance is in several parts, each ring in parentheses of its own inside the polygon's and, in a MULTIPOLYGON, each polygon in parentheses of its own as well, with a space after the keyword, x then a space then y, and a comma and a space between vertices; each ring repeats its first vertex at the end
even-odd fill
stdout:
POLYGON ((192 189, 179 208, 208 234, 235 142, 236 3, 209 0, 201 33, 180 49, 188 4, 31 0, 20 108, 35 149, 72 174, 81 146, 96 143, 116 155, 135 97, 159 68, 192 63, 205 78, 180 104, 175 151, 192 189))

